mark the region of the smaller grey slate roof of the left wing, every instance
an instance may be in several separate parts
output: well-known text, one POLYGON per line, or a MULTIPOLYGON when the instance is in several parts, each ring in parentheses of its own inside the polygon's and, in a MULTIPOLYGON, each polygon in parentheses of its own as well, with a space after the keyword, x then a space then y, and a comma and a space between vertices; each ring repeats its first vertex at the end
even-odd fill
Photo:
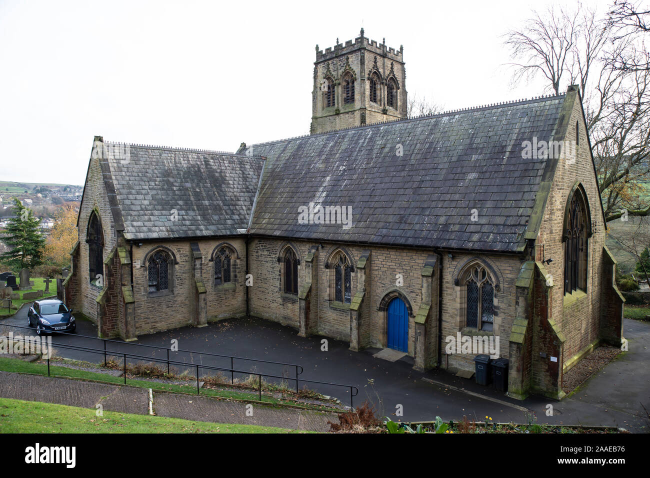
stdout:
POLYGON ((104 182, 116 229, 126 239, 237 235, 248 227, 263 159, 162 146, 104 146, 104 182))

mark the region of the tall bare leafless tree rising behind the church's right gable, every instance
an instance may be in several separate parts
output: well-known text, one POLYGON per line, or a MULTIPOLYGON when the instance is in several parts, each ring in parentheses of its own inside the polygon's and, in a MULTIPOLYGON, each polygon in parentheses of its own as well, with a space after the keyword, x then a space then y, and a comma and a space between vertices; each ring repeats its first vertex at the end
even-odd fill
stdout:
MULTIPOLYGON (((615 5, 616 7, 616 5, 615 5)), ((640 33, 620 35, 612 16, 599 18, 578 3, 573 11, 533 12, 521 30, 506 34, 513 82, 543 75, 560 94, 578 84, 607 221, 650 214, 643 189, 650 178, 650 76, 640 33)))

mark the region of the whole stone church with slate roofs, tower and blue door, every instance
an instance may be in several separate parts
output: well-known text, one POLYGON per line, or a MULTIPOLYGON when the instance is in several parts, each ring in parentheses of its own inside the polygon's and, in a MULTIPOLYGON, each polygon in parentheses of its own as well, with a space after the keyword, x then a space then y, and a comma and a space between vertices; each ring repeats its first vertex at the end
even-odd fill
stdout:
POLYGON ((473 370, 476 350, 448 344, 497 339, 510 395, 561 398, 567 370, 622 339, 578 89, 407 118, 402 55, 363 30, 317 47, 304 137, 235 153, 95 137, 60 298, 102 337, 251 315, 421 371, 473 370))

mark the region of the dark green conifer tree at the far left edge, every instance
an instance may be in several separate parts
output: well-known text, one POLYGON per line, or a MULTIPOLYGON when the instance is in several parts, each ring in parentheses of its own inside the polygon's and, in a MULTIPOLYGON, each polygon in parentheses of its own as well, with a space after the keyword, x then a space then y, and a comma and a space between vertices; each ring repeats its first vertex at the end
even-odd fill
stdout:
POLYGON ((45 237, 38 229, 39 220, 31 209, 14 198, 14 214, 8 220, 3 241, 10 250, 0 256, 12 268, 35 267, 42 263, 45 237))

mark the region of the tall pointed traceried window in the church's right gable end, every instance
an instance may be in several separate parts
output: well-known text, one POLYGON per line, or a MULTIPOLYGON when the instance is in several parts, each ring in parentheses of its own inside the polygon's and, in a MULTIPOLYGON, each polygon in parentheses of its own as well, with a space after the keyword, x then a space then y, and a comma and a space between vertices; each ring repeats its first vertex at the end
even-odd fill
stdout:
POLYGON ((587 204, 582 189, 573 192, 564 219, 564 293, 587 290, 587 204))

